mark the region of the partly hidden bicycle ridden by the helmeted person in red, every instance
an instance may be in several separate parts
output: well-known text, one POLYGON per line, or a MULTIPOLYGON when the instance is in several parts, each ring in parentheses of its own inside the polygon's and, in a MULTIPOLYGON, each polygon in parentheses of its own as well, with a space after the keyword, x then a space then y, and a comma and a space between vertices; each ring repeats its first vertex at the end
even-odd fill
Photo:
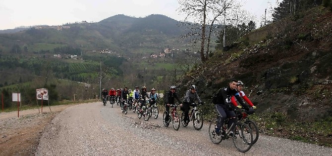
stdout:
POLYGON ((259 137, 259 129, 258 129, 258 126, 256 124, 255 121, 253 120, 250 120, 248 115, 250 115, 249 111, 246 111, 246 110, 241 110, 241 115, 238 116, 238 120, 240 122, 243 122, 245 124, 247 124, 251 130, 252 130, 252 134, 253 134, 253 137, 254 137, 254 140, 252 142, 252 144, 254 145, 257 140, 258 140, 258 137, 259 137))

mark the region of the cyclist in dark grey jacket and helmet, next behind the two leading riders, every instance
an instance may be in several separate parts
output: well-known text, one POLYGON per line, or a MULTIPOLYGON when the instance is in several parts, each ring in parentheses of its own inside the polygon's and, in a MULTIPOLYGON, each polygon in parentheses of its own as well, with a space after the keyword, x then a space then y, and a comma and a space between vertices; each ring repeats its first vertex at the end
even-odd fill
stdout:
POLYGON ((188 123, 189 120, 189 110, 190 106, 195 107, 195 101, 197 100, 199 104, 203 104, 201 99, 199 98, 197 92, 197 87, 195 85, 191 85, 190 89, 186 92, 186 95, 184 96, 183 105, 181 107, 181 110, 184 113, 184 122, 188 123))

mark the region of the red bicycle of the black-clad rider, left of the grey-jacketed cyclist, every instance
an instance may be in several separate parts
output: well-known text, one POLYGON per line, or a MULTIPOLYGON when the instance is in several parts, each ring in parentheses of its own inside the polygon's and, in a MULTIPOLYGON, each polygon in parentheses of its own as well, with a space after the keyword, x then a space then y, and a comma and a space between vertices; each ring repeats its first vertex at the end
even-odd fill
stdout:
POLYGON ((172 111, 170 113, 168 113, 167 111, 164 112, 164 115, 163 115, 164 125, 165 125, 165 127, 168 127, 169 122, 172 121, 174 130, 179 130, 181 119, 176 113, 177 105, 169 105, 169 107, 172 107, 172 111), (166 121, 166 119, 165 119, 167 113, 168 113, 168 121, 166 121))

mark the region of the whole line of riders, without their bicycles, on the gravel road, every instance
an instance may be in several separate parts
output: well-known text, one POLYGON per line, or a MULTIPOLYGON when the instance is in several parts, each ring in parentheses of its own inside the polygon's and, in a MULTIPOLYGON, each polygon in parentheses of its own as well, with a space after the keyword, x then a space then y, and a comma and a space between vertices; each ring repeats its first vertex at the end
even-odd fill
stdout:
MULTIPOLYGON (((252 104, 252 102, 248 99, 248 97, 244 94, 243 82, 237 80, 231 80, 229 85, 221 88, 217 95, 217 102, 215 103, 215 109, 220 116, 219 122, 215 128, 215 133, 220 135, 221 125, 223 124, 226 118, 229 118, 228 126, 236 121, 236 115, 234 113, 235 108, 243 108, 251 113, 253 113, 256 109, 256 106, 252 104), (244 101, 247 103, 245 103, 244 101), (238 103, 240 105, 238 105, 238 103)), ((204 103, 201 101, 200 97, 196 92, 197 87, 195 85, 191 85, 190 89, 186 92, 183 101, 181 101, 176 93, 176 86, 172 85, 169 87, 169 91, 166 92, 165 95, 165 108, 166 111, 169 112, 169 106, 175 104, 175 99, 180 104, 181 110, 184 113, 184 122, 189 122, 189 110, 190 107, 196 107, 198 104, 203 105, 204 103)), ((125 87, 123 90, 111 88, 108 92, 107 89, 103 89, 104 98, 111 97, 111 99, 117 99, 120 102, 120 106, 123 106, 125 100, 133 100, 133 107, 139 106, 138 111, 142 111, 142 107, 146 104, 146 98, 149 100, 150 105, 148 108, 150 109, 152 105, 156 103, 159 99, 159 96, 156 94, 156 89, 152 88, 150 95, 147 92, 146 86, 142 86, 141 90, 139 90, 138 86, 135 86, 134 91, 131 89, 128 90, 125 87)), ((133 112, 136 110, 133 109, 133 112)), ((167 114, 165 120, 168 120, 169 115, 167 114)))

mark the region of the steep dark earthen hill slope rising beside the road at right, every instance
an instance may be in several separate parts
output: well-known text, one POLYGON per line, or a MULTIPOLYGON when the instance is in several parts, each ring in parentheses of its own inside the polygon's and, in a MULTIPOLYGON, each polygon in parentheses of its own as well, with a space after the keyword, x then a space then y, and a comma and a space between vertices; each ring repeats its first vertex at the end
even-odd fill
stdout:
POLYGON ((248 34, 192 70, 180 82, 180 93, 195 84, 208 100, 229 80, 241 80, 256 113, 273 114, 270 117, 277 120, 261 127, 264 133, 274 129, 272 135, 308 137, 331 146, 331 17, 331 11, 316 7, 248 34), (279 125, 278 120, 285 123, 279 125), (284 128, 293 124, 302 127, 284 128))

